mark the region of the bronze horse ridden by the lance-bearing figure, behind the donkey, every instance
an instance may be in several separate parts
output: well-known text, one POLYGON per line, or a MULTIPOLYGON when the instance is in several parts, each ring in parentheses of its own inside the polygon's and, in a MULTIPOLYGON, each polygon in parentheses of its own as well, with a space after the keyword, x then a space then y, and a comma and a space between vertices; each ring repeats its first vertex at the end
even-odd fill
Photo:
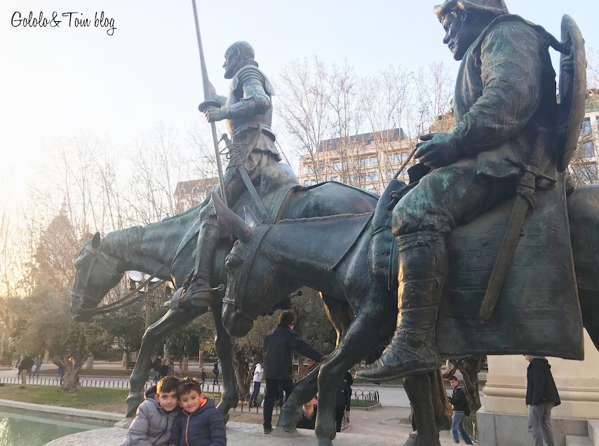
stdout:
MULTIPOLYGON (((260 195, 265 207, 271 212, 273 221, 347 212, 372 212, 377 203, 377 196, 374 194, 338 182, 300 187, 290 166, 283 163, 264 168, 260 195)), ((235 210, 241 213, 244 205, 250 203, 246 193, 235 210)), ((187 241, 182 239, 194 224, 198 225, 197 217, 201 207, 202 205, 197 205, 179 215, 145 227, 112 231, 104 238, 101 238, 99 233, 95 234, 92 240, 83 246, 76 259, 76 278, 71 299, 71 310, 75 320, 86 320, 93 316, 102 298, 121 281, 125 271, 135 270, 150 274, 166 264, 170 265, 170 269, 162 268, 156 277, 166 281, 173 280, 175 286, 182 283, 194 268, 197 230, 193 238, 187 241)), ((215 259, 213 283, 227 281, 224 258, 231 246, 232 242, 228 238, 222 239, 215 259)), ((216 330, 215 349, 222 362, 223 379, 222 399, 217 408, 226 419, 229 409, 236 407, 238 403, 238 393, 231 355, 231 338, 221 322, 221 296, 218 296, 218 293, 215 295, 217 297, 212 304, 216 330)), ((338 313, 334 299, 324 295, 323 302, 328 306, 330 314, 338 313)), ((160 320, 148 327, 130 376, 127 417, 133 417, 137 406, 143 401, 143 387, 147 380, 150 356, 156 344, 206 311, 208 307, 197 306, 192 306, 189 310, 170 309, 160 320)))

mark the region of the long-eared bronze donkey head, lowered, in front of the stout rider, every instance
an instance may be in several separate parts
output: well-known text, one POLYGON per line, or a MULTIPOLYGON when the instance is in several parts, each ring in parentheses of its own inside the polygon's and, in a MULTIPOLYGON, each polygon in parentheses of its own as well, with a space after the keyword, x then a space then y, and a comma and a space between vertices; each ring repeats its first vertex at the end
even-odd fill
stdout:
POLYGON ((218 218, 238 240, 227 259, 227 292, 222 299, 222 323, 234 337, 243 337, 251 330, 258 316, 274 311, 292 286, 278 274, 276 259, 265 255, 260 247, 271 225, 258 222, 253 212, 245 208, 245 221, 227 208, 213 194, 218 218))

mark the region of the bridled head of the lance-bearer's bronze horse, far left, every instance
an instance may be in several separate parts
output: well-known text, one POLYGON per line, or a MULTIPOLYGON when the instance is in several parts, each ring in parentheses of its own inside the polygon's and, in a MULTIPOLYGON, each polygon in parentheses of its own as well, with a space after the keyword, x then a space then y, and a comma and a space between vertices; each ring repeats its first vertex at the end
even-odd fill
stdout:
POLYGON ((75 261, 76 276, 71 292, 71 312, 75 320, 90 320, 102 298, 123 278, 121 261, 111 255, 96 232, 75 261), (122 271, 122 272, 121 272, 122 271))

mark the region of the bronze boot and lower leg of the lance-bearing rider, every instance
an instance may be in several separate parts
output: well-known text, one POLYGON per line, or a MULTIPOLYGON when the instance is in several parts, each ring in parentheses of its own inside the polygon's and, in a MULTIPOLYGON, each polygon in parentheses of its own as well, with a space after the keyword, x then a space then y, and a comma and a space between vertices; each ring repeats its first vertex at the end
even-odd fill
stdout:
POLYGON ((210 215, 200 227, 198 234, 198 247, 196 256, 199 256, 198 270, 193 278, 184 301, 195 306, 208 306, 212 304, 210 281, 212 279, 214 254, 220 239, 220 223, 216 216, 210 215))

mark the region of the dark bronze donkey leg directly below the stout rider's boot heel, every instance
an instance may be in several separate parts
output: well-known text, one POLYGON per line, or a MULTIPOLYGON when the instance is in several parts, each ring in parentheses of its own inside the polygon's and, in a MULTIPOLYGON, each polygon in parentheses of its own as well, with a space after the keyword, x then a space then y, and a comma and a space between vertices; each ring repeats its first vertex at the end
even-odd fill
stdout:
POLYGON ((412 439, 405 443, 418 446, 440 446, 439 433, 431 399, 431 377, 428 373, 415 374, 403 380, 403 388, 408 393, 414 409, 418 432, 417 442, 412 439))

